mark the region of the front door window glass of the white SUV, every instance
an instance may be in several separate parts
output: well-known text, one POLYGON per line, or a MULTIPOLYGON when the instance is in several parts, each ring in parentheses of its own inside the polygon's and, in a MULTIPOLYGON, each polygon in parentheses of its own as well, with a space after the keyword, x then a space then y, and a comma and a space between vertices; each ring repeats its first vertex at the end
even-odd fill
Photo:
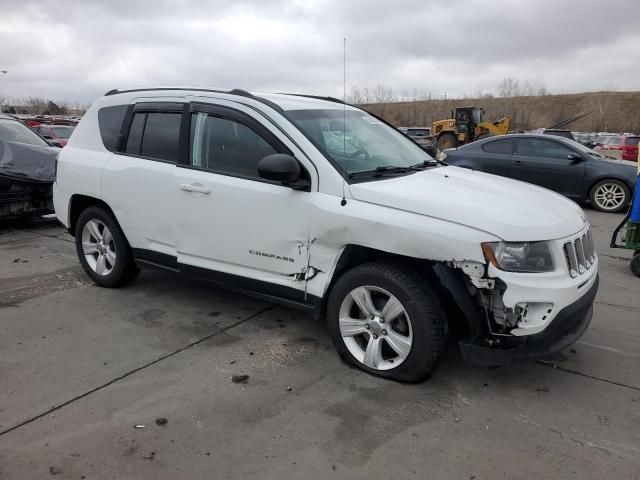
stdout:
POLYGON ((276 149, 246 125, 207 113, 191 115, 190 162, 198 168, 259 179, 258 163, 276 149))

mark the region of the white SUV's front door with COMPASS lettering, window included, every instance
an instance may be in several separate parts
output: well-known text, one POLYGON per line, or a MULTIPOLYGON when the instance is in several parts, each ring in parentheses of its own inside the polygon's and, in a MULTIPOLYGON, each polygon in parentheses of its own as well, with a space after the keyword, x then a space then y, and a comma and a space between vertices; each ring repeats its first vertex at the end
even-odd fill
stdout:
POLYGON ((257 170, 267 155, 294 152, 238 104, 192 103, 188 124, 188 158, 174 176, 179 268, 304 301, 311 193, 257 170))

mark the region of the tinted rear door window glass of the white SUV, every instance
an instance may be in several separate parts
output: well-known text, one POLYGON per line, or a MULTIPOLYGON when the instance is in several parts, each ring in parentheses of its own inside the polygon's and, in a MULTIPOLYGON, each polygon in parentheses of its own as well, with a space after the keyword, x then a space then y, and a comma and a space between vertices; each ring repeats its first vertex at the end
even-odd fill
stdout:
POLYGON ((125 152, 177 162, 181 120, 180 113, 136 112, 131 122, 125 152))

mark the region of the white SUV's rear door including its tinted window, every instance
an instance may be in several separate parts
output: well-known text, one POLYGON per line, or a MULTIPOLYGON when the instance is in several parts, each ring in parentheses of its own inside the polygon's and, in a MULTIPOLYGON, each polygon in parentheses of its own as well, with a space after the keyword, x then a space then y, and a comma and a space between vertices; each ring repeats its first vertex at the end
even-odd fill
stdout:
POLYGON ((183 108, 178 101, 130 105, 120 150, 111 155, 102 177, 104 200, 135 255, 163 263, 175 262, 176 256, 171 211, 183 108))

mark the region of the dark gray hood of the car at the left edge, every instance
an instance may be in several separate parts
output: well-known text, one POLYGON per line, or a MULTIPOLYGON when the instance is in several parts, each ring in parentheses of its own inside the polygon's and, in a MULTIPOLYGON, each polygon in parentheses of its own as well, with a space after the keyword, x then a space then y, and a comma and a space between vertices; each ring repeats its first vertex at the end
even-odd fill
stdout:
POLYGON ((59 148, 0 140, 0 175, 53 183, 59 148))

